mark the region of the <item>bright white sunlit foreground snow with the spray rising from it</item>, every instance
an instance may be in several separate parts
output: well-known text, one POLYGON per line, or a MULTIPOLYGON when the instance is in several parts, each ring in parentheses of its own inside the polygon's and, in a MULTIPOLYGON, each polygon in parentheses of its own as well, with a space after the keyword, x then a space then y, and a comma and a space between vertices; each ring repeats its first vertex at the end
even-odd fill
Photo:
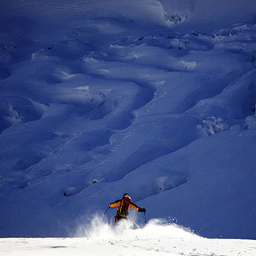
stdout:
POLYGON ((4 256, 254 256, 256 251, 254 240, 201 238, 175 225, 161 225, 156 219, 143 229, 129 229, 127 223, 111 229, 107 223, 97 223, 101 225, 82 238, 2 238, 0 251, 4 256))

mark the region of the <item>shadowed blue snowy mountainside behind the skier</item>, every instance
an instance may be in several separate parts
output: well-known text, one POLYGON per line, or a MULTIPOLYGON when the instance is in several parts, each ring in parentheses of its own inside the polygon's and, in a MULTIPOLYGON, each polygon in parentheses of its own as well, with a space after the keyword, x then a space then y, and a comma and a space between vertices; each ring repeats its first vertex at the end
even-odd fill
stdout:
POLYGON ((73 235, 128 192, 150 219, 256 238, 254 1, 1 10, 2 237, 73 235))

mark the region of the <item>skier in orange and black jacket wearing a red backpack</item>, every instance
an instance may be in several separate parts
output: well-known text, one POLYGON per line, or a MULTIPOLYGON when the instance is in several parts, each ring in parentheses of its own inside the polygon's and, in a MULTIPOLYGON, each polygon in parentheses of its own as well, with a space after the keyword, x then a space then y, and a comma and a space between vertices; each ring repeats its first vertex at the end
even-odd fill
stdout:
POLYGON ((140 208, 139 206, 136 206, 135 203, 132 202, 129 194, 125 193, 123 194, 123 198, 120 200, 115 201, 114 203, 109 204, 110 207, 117 207, 117 213, 115 222, 117 223, 120 219, 128 219, 128 210, 129 208, 133 208, 134 210, 137 210, 139 212, 145 213, 145 208, 140 208))

